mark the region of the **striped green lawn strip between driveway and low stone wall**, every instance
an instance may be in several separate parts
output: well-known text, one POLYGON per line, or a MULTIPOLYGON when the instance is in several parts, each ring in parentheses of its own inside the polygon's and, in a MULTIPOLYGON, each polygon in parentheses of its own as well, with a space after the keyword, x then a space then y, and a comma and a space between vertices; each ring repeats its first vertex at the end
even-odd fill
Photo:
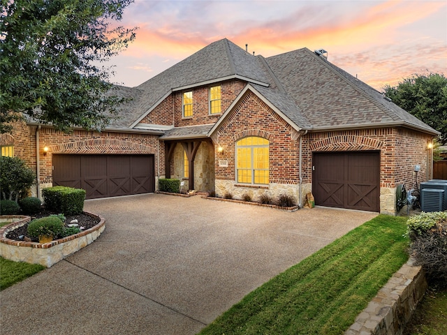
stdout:
POLYGON ((343 334, 408 259, 406 218, 380 215, 272 278, 200 334, 343 334))

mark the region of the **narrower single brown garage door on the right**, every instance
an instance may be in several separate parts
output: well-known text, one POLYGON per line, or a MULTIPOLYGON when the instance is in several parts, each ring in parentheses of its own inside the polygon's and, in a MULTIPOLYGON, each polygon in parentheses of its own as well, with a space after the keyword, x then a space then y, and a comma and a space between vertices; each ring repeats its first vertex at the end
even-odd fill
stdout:
POLYGON ((314 153, 315 204, 379 211, 379 151, 314 153))

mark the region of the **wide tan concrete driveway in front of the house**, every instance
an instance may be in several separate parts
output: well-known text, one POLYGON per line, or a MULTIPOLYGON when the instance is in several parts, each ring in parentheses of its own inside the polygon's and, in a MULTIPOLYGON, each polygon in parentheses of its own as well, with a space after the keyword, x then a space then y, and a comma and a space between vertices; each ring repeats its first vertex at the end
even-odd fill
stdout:
POLYGON ((87 200, 85 210, 105 217, 101 237, 3 290, 1 334, 196 334, 377 215, 159 194, 87 200))

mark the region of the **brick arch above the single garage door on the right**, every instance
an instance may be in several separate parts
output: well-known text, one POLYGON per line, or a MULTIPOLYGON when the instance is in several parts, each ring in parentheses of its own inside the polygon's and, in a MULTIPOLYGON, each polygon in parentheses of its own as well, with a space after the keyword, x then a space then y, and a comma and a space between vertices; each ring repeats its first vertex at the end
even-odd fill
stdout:
POLYGON ((313 142, 310 145, 311 151, 360 151, 360 150, 380 150, 383 142, 371 137, 358 135, 339 135, 325 138, 324 140, 313 142))

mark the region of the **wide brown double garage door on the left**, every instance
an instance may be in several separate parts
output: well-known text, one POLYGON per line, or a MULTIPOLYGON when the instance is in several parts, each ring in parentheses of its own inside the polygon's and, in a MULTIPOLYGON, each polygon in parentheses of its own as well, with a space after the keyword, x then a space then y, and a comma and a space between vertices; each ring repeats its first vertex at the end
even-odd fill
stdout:
POLYGON ((53 155, 53 186, 83 188, 87 199, 151 193, 154 155, 53 155))

